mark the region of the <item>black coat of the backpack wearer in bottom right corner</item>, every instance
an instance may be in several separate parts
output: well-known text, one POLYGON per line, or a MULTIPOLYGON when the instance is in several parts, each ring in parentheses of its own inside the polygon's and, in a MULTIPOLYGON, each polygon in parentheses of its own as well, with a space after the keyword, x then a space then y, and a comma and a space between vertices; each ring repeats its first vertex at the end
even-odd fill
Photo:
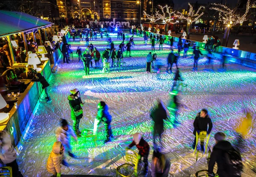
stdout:
POLYGON ((226 140, 221 140, 213 147, 213 151, 210 156, 209 164, 208 164, 208 172, 212 174, 213 167, 215 162, 218 165, 218 175, 219 177, 230 177, 228 174, 228 164, 227 159, 225 158, 224 152, 227 150, 233 149, 230 142, 226 140))

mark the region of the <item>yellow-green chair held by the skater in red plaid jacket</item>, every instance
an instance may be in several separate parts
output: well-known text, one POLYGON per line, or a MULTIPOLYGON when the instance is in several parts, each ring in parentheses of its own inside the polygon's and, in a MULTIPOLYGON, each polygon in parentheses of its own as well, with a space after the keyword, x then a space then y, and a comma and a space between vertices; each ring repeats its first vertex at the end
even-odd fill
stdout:
POLYGON ((140 155, 137 152, 134 152, 133 150, 128 149, 125 152, 125 159, 127 161, 127 163, 122 164, 121 166, 118 166, 116 168, 116 177, 118 175, 120 175, 121 177, 131 177, 132 174, 135 175, 135 177, 138 176, 137 172, 138 172, 138 163, 140 160, 140 155), (121 170, 123 168, 128 168, 131 167, 133 168, 132 172, 130 174, 121 174, 121 170))

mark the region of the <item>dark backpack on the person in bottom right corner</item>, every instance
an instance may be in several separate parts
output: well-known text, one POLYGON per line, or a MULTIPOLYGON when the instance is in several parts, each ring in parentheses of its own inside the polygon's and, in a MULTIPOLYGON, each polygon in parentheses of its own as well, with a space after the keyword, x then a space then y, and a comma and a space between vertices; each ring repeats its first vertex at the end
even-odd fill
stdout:
POLYGON ((243 171, 241 154, 236 149, 230 149, 225 151, 225 157, 230 177, 241 177, 243 171))

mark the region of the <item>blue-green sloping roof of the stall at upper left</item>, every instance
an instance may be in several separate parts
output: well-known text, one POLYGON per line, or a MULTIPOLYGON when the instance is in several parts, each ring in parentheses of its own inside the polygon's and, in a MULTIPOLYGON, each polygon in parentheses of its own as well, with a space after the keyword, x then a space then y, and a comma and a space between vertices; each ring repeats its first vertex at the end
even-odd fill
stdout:
POLYGON ((0 11, 0 37, 51 26, 53 23, 17 11, 0 11))

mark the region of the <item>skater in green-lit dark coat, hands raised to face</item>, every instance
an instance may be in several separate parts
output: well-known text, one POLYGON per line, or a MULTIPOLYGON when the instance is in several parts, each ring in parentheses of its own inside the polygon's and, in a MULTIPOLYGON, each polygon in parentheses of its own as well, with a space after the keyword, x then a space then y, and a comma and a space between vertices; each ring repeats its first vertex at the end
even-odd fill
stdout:
POLYGON ((79 130, 80 119, 83 117, 82 103, 80 92, 78 89, 70 90, 71 95, 68 96, 68 102, 71 108, 71 119, 73 120, 73 130, 77 137, 81 137, 81 132, 79 130))

